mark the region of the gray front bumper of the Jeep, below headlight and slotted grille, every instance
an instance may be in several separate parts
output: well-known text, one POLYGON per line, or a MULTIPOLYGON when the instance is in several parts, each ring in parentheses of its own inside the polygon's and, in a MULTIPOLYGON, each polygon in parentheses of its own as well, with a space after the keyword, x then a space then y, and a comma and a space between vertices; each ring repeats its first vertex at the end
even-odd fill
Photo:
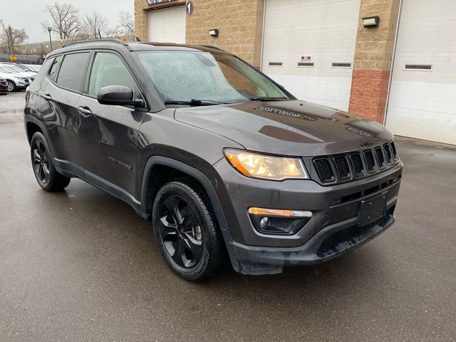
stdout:
POLYGON ((377 237, 394 222, 402 168, 398 162, 363 180, 324 187, 312 180, 244 177, 220 160, 208 175, 227 218, 229 231, 223 234, 234 269, 243 274, 275 274, 284 266, 332 259, 377 237), (380 194, 386 196, 387 214, 358 227, 361 201, 380 194), (294 235, 261 234, 252 224, 249 207, 310 210, 314 216, 294 235))

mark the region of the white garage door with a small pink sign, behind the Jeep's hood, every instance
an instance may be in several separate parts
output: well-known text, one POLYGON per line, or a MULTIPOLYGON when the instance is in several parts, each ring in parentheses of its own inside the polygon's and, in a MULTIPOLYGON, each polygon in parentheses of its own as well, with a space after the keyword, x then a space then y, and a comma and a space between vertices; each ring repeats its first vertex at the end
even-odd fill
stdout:
POLYGON ((347 110, 360 0, 266 0, 261 68, 297 98, 347 110))

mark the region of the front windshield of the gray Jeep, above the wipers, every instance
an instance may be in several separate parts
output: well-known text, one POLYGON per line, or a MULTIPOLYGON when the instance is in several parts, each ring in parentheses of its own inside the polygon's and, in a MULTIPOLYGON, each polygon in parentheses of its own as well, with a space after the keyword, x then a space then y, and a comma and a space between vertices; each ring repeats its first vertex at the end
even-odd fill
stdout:
POLYGON ((138 51, 163 101, 240 103, 254 98, 289 97, 256 69, 227 53, 138 51))

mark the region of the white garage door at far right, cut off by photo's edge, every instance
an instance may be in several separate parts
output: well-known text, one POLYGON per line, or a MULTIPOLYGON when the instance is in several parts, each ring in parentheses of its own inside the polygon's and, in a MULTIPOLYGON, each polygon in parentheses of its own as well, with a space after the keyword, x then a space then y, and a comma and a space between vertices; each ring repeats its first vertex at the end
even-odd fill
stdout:
POLYGON ((456 144, 456 1, 403 1, 386 126, 456 144))

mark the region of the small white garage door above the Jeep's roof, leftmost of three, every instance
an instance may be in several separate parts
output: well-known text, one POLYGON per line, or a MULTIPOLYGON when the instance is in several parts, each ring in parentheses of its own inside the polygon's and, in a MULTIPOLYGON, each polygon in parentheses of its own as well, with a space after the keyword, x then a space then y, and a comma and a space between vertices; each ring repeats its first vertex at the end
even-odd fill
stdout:
POLYGON ((185 6, 150 11, 149 41, 185 43, 185 6))

